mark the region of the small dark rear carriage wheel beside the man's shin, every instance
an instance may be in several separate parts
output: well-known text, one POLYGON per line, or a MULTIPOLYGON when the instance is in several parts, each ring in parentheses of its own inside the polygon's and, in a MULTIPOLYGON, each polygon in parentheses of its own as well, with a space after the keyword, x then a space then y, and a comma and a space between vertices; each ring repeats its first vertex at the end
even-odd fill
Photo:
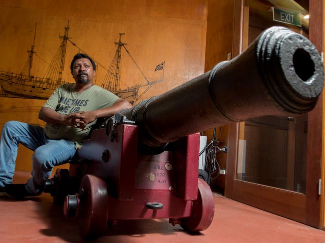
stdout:
POLYGON ((69 170, 57 169, 54 175, 53 203, 63 204, 69 193, 69 170))

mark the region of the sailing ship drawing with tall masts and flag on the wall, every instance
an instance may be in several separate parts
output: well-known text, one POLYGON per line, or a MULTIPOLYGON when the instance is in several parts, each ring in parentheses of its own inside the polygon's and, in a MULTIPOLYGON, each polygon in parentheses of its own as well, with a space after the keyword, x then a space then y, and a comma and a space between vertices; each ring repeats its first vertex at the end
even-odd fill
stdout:
MULTIPOLYGON (((79 48, 80 52, 86 53, 82 50, 76 43, 74 43, 68 36, 69 32, 69 21, 67 26, 65 26, 64 35, 60 35, 61 44, 57 50, 55 56, 53 57, 51 63, 43 78, 36 77, 31 74, 33 66, 33 58, 36 54, 35 51, 35 38, 36 38, 36 27, 34 33, 34 42, 31 49, 28 50, 28 59, 21 73, 6 72, 0 70, 0 97, 15 97, 15 98, 31 98, 31 99, 48 99, 53 91, 60 85, 67 83, 62 80, 62 72, 65 66, 65 55, 67 42, 79 48)), ((116 51, 113 60, 108 68, 102 65, 100 62, 94 59, 98 67, 103 68, 106 71, 106 75, 101 87, 113 92, 117 96, 128 100, 130 103, 135 103, 156 83, 164 80, 164 67, 165 61, 161 62, 156 66, 154 71, 162 71, 161 78, 159 80, 150 81, 143 71, 140 69, 129 50, 126 48, 126 43, 122 42, 122 36, 124 33, 119 34, 119 40, 115 41, 116 51), (136 84, 129 87, 124 82, 121 81, 121 60, 122 60, 122 48, 127 52, 129 57, 132 59, 133 63, 137 69, 141 72, 144 83, 136 84), (123 83, 127 88, 121 89, 121 83, 123 83)), ((39 55, 37 55, 40 57, 39 55)), ((89 55, 90 56, 90 55, 89 55)), ((41 57, 40 57, 41 58, 41 57)), ((44 60, 43 58, 41 58, 44 60)))

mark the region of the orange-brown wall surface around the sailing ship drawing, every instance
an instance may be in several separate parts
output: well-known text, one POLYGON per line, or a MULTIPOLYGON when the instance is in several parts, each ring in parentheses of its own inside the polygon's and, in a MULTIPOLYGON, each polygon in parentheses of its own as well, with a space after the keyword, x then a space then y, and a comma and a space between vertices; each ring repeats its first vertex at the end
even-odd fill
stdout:
MULTIPOLYGON (((35 22, 37 55, 50 63, 59 45, 59 32, 70 20, 69 36, 80 48, 108 67, 115 53, 114 40, 123 42, 151 81, 165 61, 165 79, 142 98, 161 94, 204 72, 207 0, 0 0, 0 70, 19 73, 33 43, 35 22)), ((70 60, 79 51, 67 45, 63 79, 73 81, 70 60)), ((32 74, 43 77, 48 64, 34 57, 32 74)), ((98 68, 97 84, 106 74, 98 68)), ((122 52, 122 81, 132 86, 145 83, 126 52, 122 52)), ((121 86, 125 88, 125 86, 121 86)), ((141 93, 141 92, 140 92, 141 93)), ((0 97, 0 126, 9 120, 43 125, 37 115, 44 100, 0 97)), ((16 170, 31 170, 32 152, 21 149, 16 170)))

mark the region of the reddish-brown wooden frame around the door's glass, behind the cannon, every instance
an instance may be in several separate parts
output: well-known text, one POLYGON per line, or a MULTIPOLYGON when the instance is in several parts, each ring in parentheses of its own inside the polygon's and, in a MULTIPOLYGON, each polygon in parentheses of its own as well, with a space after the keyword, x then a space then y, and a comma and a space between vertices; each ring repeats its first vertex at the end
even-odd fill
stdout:
MULTIPOLYGON (((309 0, 309 39, 322 50, 322 0, 309 0), (321 31, 319 31, 319 29, 321 31)), ((245 0, 234 2, 233 56, 242 51, 245 0)), ((306 194, 236 180, 239 123, 229 126, 229 152, 225 196, 236 201, 290 218, 316 228, 320 227, 318 180, 321 174, 322 99, 308 113, 306 194)))

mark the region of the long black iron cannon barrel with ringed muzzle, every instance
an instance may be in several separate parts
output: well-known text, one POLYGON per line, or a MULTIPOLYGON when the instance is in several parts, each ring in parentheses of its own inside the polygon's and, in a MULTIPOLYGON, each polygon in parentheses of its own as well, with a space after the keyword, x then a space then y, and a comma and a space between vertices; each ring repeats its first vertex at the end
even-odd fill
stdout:
POLYGON ((139 143, 161 147, 181 137, 264 115, 313 109, 323 65, 304 36, 274 26, 240 55, 164 94, 121 112, 139 126, 139 143))

